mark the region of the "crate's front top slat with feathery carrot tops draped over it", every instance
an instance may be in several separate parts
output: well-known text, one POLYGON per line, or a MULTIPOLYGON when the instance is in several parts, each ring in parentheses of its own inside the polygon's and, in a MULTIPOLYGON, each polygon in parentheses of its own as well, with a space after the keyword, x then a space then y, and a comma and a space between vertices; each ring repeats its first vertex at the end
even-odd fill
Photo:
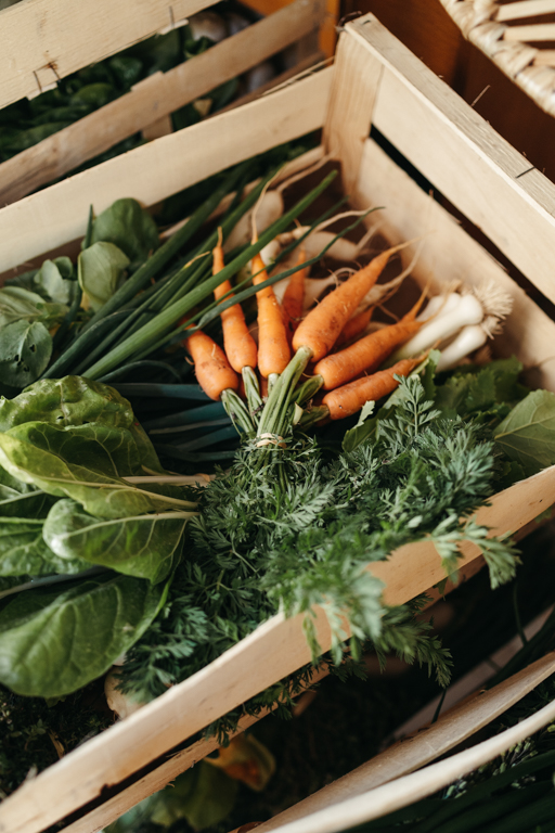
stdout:
MULTIPOLYGON (((555 466, 495 495, 476 520, 492 533, 515 531, 553 502, 555 466)), ((463 564, 480 554, 476 547, 463 550, 463 564)), ((424 542, 402 547, 387 562, 372 563, 369 568, 386 584, 384 601, 395 605, 440 580, 439 565, 435 548, 424 542)), ((0 833, 38 833, 98 798, 105 786, 129 778, 275 680, 310 663, 302 618, 274 616, 194 677, 25 782, 0 806, 0 833), (53 794, 57 795, 55 806, 49 800, 53 794)), ((332 635, 320 608, 314 610, 314 627, 325 652, 332 635)))

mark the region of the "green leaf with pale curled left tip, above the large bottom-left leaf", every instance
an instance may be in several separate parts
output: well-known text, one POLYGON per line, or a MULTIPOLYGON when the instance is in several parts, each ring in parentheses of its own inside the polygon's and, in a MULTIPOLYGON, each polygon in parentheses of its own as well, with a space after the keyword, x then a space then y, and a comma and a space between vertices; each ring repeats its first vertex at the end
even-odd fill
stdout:
POLYGON ((50 510, 42 535, 60 559, 86 559, 156 584, 179 559, 190 516, 186 512, 165 512, 102 521, 73 500, 59 500, 50 510))

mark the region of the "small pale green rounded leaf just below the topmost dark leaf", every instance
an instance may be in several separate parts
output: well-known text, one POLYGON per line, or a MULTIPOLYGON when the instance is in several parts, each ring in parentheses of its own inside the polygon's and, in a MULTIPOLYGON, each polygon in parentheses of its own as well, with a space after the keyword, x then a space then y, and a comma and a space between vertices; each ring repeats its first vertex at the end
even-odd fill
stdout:
POLYGON ((113 243, 93 243, 79 255, 77 277, 96 312, 122 283, 129 258, 113 243))

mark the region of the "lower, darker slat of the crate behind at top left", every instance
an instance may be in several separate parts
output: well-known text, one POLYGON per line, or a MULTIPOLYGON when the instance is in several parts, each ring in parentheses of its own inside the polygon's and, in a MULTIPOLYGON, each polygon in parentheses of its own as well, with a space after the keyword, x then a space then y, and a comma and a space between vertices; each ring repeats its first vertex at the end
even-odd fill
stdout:
POLYGON ((312 31, 322 14, 322 0, 296 0, 202 55, 149 76, 116 101, 18 153, 0 165, 0 205, 21 200, 124 139, 167 119, 173 111, 312 31))

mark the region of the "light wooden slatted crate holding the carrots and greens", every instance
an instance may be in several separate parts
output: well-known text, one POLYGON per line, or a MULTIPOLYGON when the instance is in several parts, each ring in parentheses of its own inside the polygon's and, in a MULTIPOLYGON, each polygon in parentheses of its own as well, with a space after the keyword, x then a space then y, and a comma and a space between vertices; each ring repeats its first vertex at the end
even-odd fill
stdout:
MULTIPOLYGON (((508 292, 515 312, 496 342, 499 353, 515 353, 537 385, 555 390, 555 323, 369 139, 371 125, 555 300, 550 259, 555 185, 528 171, 527 161, 373 15, 345 27, 333 68, 1 209, 0 239, 7 243, 0 271, 82 236, 91 203, 96 212, 120 196, 153 205, 323 127, 322 145, 305 161, 325 152, 339 158, 352 201, 387 206, 380 214, 391 242, 425 234, 414 272, 421 282, 431 277, 440 286, 491 279, 508 292)), ((495 495, 476 518, 492 534, 514 533, 553 503, 555 466, 495 495)), ((463 548, 463 573, 479 558, 477 548, 463 548)), ((434 547, 426 543, 403 547, 371 569, 384 580, 389 604, 406 602, 443 577, 434 547)), ((330 629, 323 612, 314 613, 325 651, 330 629)), ((67 833, 93 833, 159 790, 216 746, 214 741, 179 744, 310 661, 301 621, 300 616, 274 616, 210 666, 24 783, 0 808, 0 831, 39 833, 65 819, 67 833)), ((251 722, 245 718, 241 726, 251 722)))

